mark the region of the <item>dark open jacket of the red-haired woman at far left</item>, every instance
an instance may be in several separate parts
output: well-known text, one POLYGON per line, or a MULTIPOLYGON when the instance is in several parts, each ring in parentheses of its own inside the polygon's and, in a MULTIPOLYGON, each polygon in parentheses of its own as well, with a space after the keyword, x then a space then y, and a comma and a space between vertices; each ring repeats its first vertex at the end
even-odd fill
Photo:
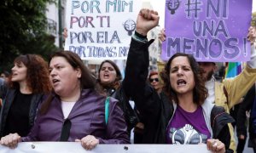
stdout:
MULTIPOLYGON (((2 88, 3 89, 3 88, 2 88)), ((3 130, 6 124, 6 119, 9 113, 9 109, 15 99, 15 96, 17 94, 16 89, 10 89, 10 88, 4 88, 2 90, 4 103, 0 114, 0 138, 3 137, 3 130)), ((30 111, 29 111, 29 122, 27 123, 29 127, 31 128, 34 124, 34 119, 37 114, 38 110, 38 104, 42 101, 44 94, 33 94, 32 95, 32 103, 30 105, 30 111)))

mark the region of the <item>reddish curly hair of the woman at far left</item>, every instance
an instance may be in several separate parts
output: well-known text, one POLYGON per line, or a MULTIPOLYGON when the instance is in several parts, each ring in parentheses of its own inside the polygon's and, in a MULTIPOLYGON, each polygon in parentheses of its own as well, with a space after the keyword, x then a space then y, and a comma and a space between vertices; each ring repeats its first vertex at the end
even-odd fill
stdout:
MULTIPOLYGON (((26 54, 18 56, 14 64, 23 63, 27 68, 26 82, 33 94, 49 93, 51 85, 49 82, 49 67, 47 62, 38 54, 26 54)), ((20 88, 18 82, 9 79, 10 88, 20 88)))

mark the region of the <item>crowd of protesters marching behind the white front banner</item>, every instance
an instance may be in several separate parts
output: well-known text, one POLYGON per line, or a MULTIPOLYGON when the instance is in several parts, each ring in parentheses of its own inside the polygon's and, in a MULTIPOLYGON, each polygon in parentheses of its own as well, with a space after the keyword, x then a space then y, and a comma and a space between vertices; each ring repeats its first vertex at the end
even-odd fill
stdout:
MULTIPOLYGON (((174 54, 162 70, 148 73, 148 46, 154 40, 148 41, 147 33, 159 20, 146 8, 137 15, 124 79, 111 60, 104 60, 94 76, 73 52, 56 52, 49 65, 36 54, 17 57, 11 75, 3 72, 0 78, 0 144, 76 141, 92 150, 97 144, 131 143, 135 127, 137 144, 204 143, 212 152, 236 152, 230 109, 250 88, 255 94, 255 27, 247 36, 251 59, 241 74, 218 82, 215 63, 196 62, 189 54, 174 54)), ((162 31, 160 40, 165 39, 162 31)), ((244 101, 242 117, 254 96, 244 101)), ((237 129, 245 128, 239 124, 237 129)))

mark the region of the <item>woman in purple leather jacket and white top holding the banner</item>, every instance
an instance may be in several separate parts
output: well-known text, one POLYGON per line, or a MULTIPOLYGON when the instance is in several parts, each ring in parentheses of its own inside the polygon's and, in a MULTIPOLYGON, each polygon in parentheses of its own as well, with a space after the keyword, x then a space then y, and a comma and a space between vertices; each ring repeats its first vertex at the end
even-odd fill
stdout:
POLYGON ((31 132, 22 138, 9 134, 1 144, 14 148, 20 141, 77 141, 91 150, 96 144, 129 143, 118 101, 109 99, 105 120, 106 96, 98 92, 95 78, 77 54, 56 52, 49 71, 54 92, 41 105, 31 132))

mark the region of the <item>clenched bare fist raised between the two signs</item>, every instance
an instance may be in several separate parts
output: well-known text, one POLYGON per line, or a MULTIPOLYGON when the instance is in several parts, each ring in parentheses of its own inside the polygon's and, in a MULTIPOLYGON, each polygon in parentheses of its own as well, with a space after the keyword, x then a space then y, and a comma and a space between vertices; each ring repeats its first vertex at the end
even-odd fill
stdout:
POLYGON ((158 25, 159 19, 160 17, 156 11, 146 8, 141 9, 137 16, 136 31, 143 36, 147 36, 148 31, 158 25))

